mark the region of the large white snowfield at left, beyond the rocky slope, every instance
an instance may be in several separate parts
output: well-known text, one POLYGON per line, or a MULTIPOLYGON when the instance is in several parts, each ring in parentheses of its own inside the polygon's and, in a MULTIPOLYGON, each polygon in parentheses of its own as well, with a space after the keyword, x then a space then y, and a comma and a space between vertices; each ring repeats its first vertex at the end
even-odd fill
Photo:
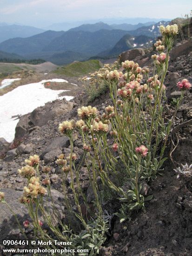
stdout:
POLYGON ((12 142, 15 127, 19 121, 18 115, 25 115, 35 108, 44 106, 46 102, 65 98, 67 101, 73 96, 59 96, 68 90, 52 90, 44 87, 45 82, 67 82, 64 79, 43 80, 26 84, 0 96, 0 137, 12 142), (15 117, 16 116, 16 117, 15 117))

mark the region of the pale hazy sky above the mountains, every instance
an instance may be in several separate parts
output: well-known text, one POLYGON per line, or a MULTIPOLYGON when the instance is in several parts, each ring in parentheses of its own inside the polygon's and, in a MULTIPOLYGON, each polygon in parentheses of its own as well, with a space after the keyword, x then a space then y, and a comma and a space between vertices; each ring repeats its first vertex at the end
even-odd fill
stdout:
POLYGON ((0 0, 0 22, 46 27, 105 18, 185 16, 192 0, 0 0))

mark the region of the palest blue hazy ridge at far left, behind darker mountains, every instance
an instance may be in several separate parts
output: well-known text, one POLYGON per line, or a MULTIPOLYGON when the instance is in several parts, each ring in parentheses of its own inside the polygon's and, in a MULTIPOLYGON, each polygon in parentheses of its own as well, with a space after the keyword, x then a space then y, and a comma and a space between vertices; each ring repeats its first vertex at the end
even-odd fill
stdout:
POLYGON ((40 34, 45 30, 37 27, 20 26, 20 25, 7 25, 0 23, 0 42, 15 37, 29 37, 35 34, 40 34))

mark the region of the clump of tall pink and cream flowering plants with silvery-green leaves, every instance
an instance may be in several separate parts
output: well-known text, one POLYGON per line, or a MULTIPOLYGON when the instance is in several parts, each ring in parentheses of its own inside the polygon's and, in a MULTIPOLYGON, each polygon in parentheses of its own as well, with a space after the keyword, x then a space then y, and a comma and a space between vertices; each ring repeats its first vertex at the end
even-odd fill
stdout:
MULTIPOLYGON (((159 30, 163 37, 155 43, 157 54, 152 55, 152 76, 149 76, 148 68, 141 68, 129 60, 120 65, 115 62, 112 67, 105 65, 99 72, 91 74, 91 83, 87 84, 86 78, 83 81, 91 100, 107 88, 113 106, 106 107, 103 115, 99 115, 95 107, 83 106, 78 109, 78 121, 60 123, 59 131, 69 137, 71 150, 69 156, 61 154, 56 161, 62 173, 64 218, 60 218, 53 200, 50 168, 44 166, 40 170, 39 156, 30 156, 25 161, 26 165, 19 170, 20 175, 27 180, 20 202, 26 205, 31 217, 23 225, 24 228, 33 228, 35 238, 72 242, 72 249, 89 249, 88 254, 79 253, 79 256, 97 255, 110 228, 111 216, 107 212, 106 202, 109 199, 118 202, 119 211, 116 215, 123 222, 131 218, 132 211, 145 209, 145 202, 152 199, 152 195, 141 193, 142 182, 148 182, 163 173, 163 164, 166 161, 164 152, 174 126, 175 115, 185 90, 192 86, 187 79, 178 82, 176 86, 181 90, 181 96, 176 100, 174 114, 168 119, 164 108, 164 80, 178 27, 160 26, 159 30), (81 157, 73 152, 75 131, 82 138, 84 153, 81 157), (87 202, 79 181, 82 167, 89 174, 94 193, 91 204, 87 202), (43 180, 40 171, 46 174, 43 180), (67 177, 70 178, 75 205, 71 204, 67 196, 67 177), (98 177, 102 182, 101 187, 98 186, 98 177), (52 210, 47 207, 48 198, 51 199, 52 210), (86 207, 86 216, 82 205, 86 207), (43 217, 43 222, 39 216, 43 217), (44 224, 48 228, 45 229, 44 224)), ((0 202, 6 203, 2 192, 0 202)), ((20 226, 26 236, 24 228, 20 226)), ((49 245, 46 247, 51 248, 49 245)), ((57 249, 56 246, 53 249, 57 249)))

